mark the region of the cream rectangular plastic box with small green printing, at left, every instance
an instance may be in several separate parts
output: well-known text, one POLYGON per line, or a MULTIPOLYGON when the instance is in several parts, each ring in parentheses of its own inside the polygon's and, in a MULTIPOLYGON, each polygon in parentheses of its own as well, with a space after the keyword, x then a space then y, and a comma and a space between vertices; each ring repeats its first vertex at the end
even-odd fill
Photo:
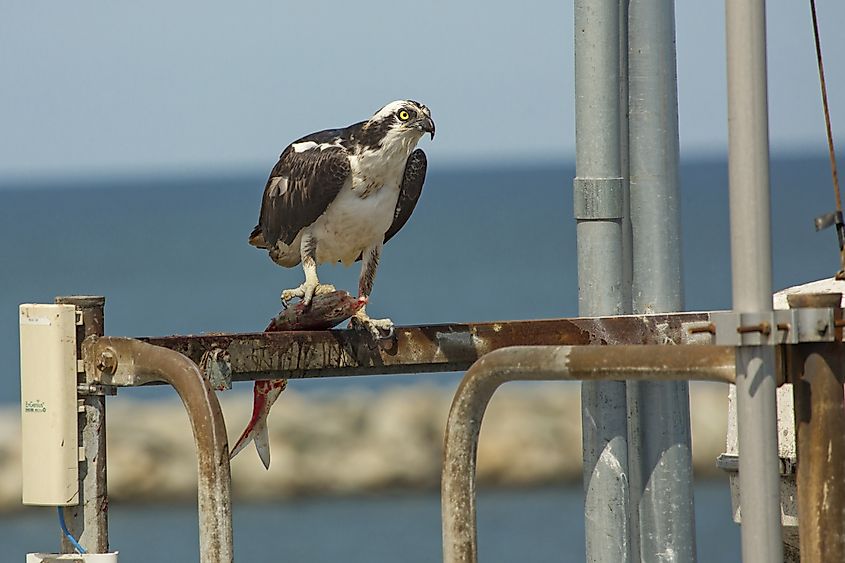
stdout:
POLYGON ((76 308, 20 306, 23 503, 79 504, 76 308))

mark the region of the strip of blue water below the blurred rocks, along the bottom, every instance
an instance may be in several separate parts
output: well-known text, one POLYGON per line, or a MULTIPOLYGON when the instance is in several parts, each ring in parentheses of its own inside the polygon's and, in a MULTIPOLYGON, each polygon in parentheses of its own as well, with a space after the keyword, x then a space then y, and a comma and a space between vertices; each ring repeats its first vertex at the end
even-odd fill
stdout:
MULTIPOLYGON (((727 482, 696 486, 698 560, 739 563, 739 528, 730 519, 727 482)), ((196 561, 193 507, 110 509, 109 539, 121 563, 196 561)), ((440 499, 397 494, 349 499, 294 500, 234 507, 236 561, 294 563, 430 563, 441 560, 440 499)), ((478 498, 479 559, 485 563, 583 563, 580 488, 482 490, 478 498)), ((30 509, 0 519, 0 561, 56 549, 53 509, 30 509)))

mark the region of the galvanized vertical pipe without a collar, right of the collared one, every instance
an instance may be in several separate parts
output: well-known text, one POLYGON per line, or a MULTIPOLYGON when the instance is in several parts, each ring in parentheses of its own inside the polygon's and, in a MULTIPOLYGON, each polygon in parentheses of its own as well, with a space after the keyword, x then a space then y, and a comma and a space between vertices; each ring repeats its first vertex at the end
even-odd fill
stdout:
MULTIPOLYGON (((628 12, 633 311, 683 309, 674 0, 628 12)), ((631 504, 643 561, 695 561, 689 386, 629 382, 631 504)))

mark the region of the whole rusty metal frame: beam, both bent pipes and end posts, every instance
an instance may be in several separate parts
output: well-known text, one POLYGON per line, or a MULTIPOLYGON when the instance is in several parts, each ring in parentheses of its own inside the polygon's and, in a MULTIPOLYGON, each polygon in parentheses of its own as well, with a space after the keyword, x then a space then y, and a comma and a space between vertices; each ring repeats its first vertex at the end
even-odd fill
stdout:
MULTIPOLYGON (((789 374, 794 382, 806 380, 813 391, 809 403, 797 401, 804 405, 800 420, 806 423, 799 426, 799 447, 802 454, 811 452, 806 454, 805 476, 799 479, 799 496, 805 511, 815 510, 813 521, 826 533, 802 535, 802 550, 803 538, 809 542, 816 537, 821 546, 816 551, 825 554, 831 542, 845 545, 845 526, 835 518, 845 509, 845 435, 829 431, 845 428, 845 409, 837 408, 843 400, 845 349, 840 340, 845 323, 838 309, 810 305, 793 313, 784 317, 788 322, 776 327, 778 333, 790 337, 772 339, 763 347, 773 355, 775 349, 781 349, 777 355, 779 383, 784 381, 783 374, 789 374), (831 393, 838 390, 838 396, 817 391, 819 385, 831 393), (835 455, 812 453, 822 450, 835 455), (824 486, 834 500, 818 510, 813 504, 817 495, 810 495, 823 491, 824 486)), ((176 389, 188 411, 197 446, 200 560, 222 563, 233 560, 230 474, 225 423, 210 383, 212 376, 226 373, 233 380, 315 378, 452 371, 472 364, 449 414, 442 504, 444 561, 476 561, 478 431, 487 402, 502 383, 517 379, 731 383, 735 374, 741 373, 744 347, 733 342, 712 343, 730 340, 731 334, 753 337, 762 330, 760 323, 742 325, 743 319, 747 320, 742 315, 717 312, 404 327, 389 348, 375 346, 366 335, 352 331, 133 339, 98 336, 97 330, 89 328, 81 332, 90 335, 81 345, 85 377, 79 388, 82 395, 101 399, 116 387, 168 383, 176 389), (714 322, 717 319, 719 322, 714 322)), ((101 327, 102 321, 99 325, 92 321, 92 325, 101 327)), ((796 393, 801 389, 796 385, 796 393)), ((105 425, 96 430, 82 432, 86 452, 90 451, 89 442, 104 440, 105 425)), ((105 467, 105 461, 105 450, 98 450, 97 464, 105 467)), ((96 504, 82 505, 79 531, 83 537, 96 531, 100 543, 90 545, 106 551, 107 511, 97 509, 108 505, 105 472, 91 472, 84 479, 91 480, 101 493, 96 504)))

